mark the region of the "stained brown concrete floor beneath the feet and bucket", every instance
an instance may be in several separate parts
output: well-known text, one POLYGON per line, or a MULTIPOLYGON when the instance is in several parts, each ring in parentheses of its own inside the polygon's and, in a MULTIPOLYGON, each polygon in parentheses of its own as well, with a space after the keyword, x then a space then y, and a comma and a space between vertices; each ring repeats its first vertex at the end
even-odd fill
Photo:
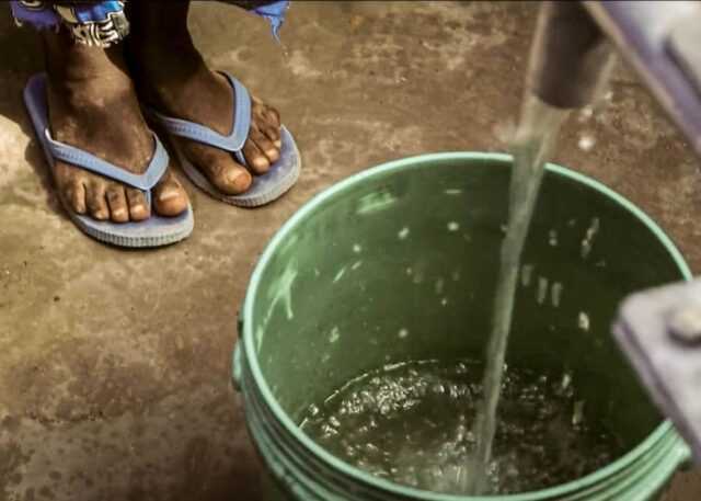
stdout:
MULTIPOLYGON (((427 151, 503 150, 535 13, 518 3, 296 2, 285 56, 258 19, 195 5, 207 59, 279 106, 303 174, 253 212, 191 190, 189 240, 124 252, 84 237, 57 204, 20 99, 41 50, 0 8, 0 501, 258 499, 229 384, 256 257, 301 204, 352 173, 427 151)), ((608 98, 570 121, 555 160, 643 207, 699 270, 696 160, 625 69, 608 98), (590 151, 583 137, 596 141, 590 151)), ((698 499, 691 472, 667 501, 698 499)))

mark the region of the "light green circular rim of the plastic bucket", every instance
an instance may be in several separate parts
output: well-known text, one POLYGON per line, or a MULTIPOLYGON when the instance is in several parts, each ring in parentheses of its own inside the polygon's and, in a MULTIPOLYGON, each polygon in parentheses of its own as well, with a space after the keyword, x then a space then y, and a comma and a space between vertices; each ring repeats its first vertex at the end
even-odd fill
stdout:
MULTIPOLYGON (((279 248, 280 242, 285 237, 297 226, 297 224, 304 218, 323 202, 332 198, 333 196, 343 193, 346 189, 356 185, 363 181, 400 171, 406 167, 414 166, 428 161, 450 161, 450 160, 480 160, 480 161, 494 161, 497 163, 512 163, 513 156, 501 152, 483 152, 483 151, 449 151, 449 152, 433 152, 423 153, 395 160, 390 160, 380 163, 376 167, 363 170, 355 173, 344 180, 341 180, 320 193, 315 194, 312 198, 306 202, 273 236, 273 238, 266 244, 263 253, 261 254, 258 262, 251 275, 249 286, 245 293, 243 308, 241 311, 242 329, 241 339, 243 348, 243 357, 245 358, 244 365, 251 372, 253 376, 253 383, 257 391, 260 391, 263 401, 268 407, 272 415, 281 424, 283 430, 291 435, 307 449, 308 453, 315 456, 317 459, 326 464, 327 466, 335 468, 348 478, 353 478, 361 483, 369 485, 375 489, 381 489, 387 492, 391 492, 398 496, 402 496, 409 499, 422 500, 422 501, 547 501, 559 499, 559 497, 572 494, 588 487, 595 486, 608 477, 620 472, 632 464, 640 460, 645 453, 653 448, 657 443, 665 439, 679 440, 675 433, 671 423, 667 420, 663 421, 655 430, 650 433, 640 444, 633 447, 631 451, 619 457, 614 462, 607 466, 593 471, 582 478, 561 483, 547 489, 537 491, 519 492, 516 494, 504 496, 460 496, 460 494, 444 494, 437 492, 430 492, 427 490, 416 489, 412 487, 394 483, 389 480, 384 480, 375 477, 359 468, 356 468, 348 463, 337 458, 333 454, 326 452, 323 447, 318 445, 309 435, 299 429, 294 420, 281 408, 273 391, 263 376, 263 372, 257 361, 256 353, 254 351, 255 343, 253 341, 253 306, 254 297, 258 289, 261 277, 264 270, 267 267, 269 260, 274 252, 279 248)), ((579 184, 586 185, 599 194, 608 197, 618 205, 627 209, 633 217, 643 223, 653 234, 653 236, 664 246, 665 250, 669 253, 670 258, 677 265, 682 280, 690 281, 692 278, 691 270, 683 259, 681 252, 678 250, 671 238, 655 223, 652 217, 644 213, 640 207, 625 198, 620 193, 616 192, 611 187, 604 183, 590 178, 589 175, 576 172, 568 168, 548 162, 545 163, 548 172, 559 177, 567 178, 579 184)), ((248 386, 248 385, 246 385, 248 386)), ((679 459, 681 462, 681 459, 679 459)))

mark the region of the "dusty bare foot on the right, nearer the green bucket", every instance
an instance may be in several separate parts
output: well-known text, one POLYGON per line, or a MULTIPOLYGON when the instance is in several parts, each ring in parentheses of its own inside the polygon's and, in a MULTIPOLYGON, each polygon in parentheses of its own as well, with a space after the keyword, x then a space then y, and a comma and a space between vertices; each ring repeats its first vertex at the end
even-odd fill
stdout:
MULTIPOLYGON (((207 68, 195 48, 187 32, 188 2, 173 2, 168 16, 154 2, 128 5, 131 34, 127 59, 142 101, 163 114, 228 135, 233 123, 233 90, 225 77, 207 68)), ((254 98, 251 115, 242 151, 249 169, 229 151, 174 138, 185 157, 228 195, 244 193, 252 175, 267 172, 280 157, 279 113, 254 98)))

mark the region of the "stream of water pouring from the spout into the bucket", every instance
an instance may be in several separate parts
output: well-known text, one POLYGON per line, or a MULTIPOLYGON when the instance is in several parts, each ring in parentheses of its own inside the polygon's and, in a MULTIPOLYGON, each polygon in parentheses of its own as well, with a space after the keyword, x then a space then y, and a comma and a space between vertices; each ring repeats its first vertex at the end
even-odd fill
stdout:
POLYGON ((520 255, 538 198, 545 159, 567 114, 567 110, 552 107, 537 96, 528 95, 512 146, 514 168, 509 190, 508 227, 502 243, 492 335, 484 373, 484 400, 474 428, 478 446, 470 468, 473 475, 467 479, 468 490, 475 494, 484 492, 487 486, 520 255))

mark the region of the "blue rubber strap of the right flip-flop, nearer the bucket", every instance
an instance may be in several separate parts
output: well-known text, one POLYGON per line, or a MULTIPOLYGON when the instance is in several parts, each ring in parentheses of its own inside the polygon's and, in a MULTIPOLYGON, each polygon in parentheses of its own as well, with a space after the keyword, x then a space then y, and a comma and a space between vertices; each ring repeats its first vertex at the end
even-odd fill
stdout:
POLYGON ((231 134, 228 136, 222 136, 211 128, 194 122, 173 118, 156 111, 151 111, 151 114, 170 134, 231 151, 239 161, 242 161, 243 156, 241 155, 241 149, 249 137, 249 130, 251 128, 251 96, 246 88, 239 80, 223 71, 221 71, 221 75, 227 78, 234 93, 235 111, 233 114, 233 126, 231 127, 231 134))

